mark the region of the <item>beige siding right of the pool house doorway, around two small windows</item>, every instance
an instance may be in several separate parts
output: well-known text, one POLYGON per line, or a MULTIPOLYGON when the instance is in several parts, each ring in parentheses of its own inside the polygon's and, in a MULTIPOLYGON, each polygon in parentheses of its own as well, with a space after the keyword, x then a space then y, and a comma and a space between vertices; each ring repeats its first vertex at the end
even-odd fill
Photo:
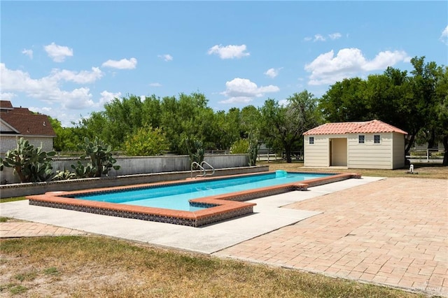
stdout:
POLYGON ((393 169, 392 133, 378 133, 379 144, 374 143, 375 134, 349 134, 348 167, 355 169, 393 169), (358 136, 365 136, 363 144, 358 143, 358 136))

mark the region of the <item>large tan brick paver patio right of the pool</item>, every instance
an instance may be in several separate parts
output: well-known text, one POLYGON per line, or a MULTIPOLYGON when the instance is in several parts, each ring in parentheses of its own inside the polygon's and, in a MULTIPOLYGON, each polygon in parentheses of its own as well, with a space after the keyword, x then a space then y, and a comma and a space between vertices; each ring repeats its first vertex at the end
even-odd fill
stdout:
POLYGON ((448 181, 387 178, 288 206, 323 211, 216 253, 448 296, 448 181))

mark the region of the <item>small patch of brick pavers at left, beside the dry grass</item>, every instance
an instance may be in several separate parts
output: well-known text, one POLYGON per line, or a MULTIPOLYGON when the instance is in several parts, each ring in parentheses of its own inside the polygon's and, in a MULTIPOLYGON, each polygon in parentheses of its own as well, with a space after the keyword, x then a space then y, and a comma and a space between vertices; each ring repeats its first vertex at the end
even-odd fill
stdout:
POLYGON ((83 235, 85 232, 65 227, 55 227, 38 222, 10 221, 0 222, 0 238, 83 235))

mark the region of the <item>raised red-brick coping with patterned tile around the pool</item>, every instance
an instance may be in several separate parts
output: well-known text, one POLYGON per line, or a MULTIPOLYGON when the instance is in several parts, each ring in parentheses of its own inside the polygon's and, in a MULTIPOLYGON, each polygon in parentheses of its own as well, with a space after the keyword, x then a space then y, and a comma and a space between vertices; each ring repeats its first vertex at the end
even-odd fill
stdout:
MULTIPOLYGON (((288 171, 290 173, 307 173, 302 171, 288 171)), ((323 185, 349 178, 360 178, 358 173, 332 173, 332 176, 314 178, 300 183, 286 183, 270 187, 262 187, 255 190, 246 190, 241 192, 232 192, 230 194, 220 194, 211 197, 203 197, 200 199, 190 200, 195 204, 214 205, 211 208, 205 208, 199 211, 177 211, 165 208, 154 208, 144 206, 133 206, 127 204, 115 204, 101 201, 88 201, 83 199, 73 199, 66 196, 92 193, 92 192, 111 192, 114 190, 135 190, 144 187, 158 187, 165 185, 176 185, 183 183, 191 183, 192 181, 203 180, 222 180, 225 178, 238 176, 266 175, 274 173, 268 171, 264 173, 246 173, 232 175, 228 177, 207 177, 200 179, 177 180, 162 183, 145 183, 131 186, 104 187, 92 190, 79 190, 71 192, 46 192, 45 194, 27 196, 30 205, 45 206, 51 208, 63 208, 73 211, 82 211, 87 213, 95 213, 102 215, 118 216, 122 218, 134 218, 139 220, 150 220, 155 222, 166 222, 175 225, 187 225, 190 227, 201 227, 214 222, 237 218, 242 215, 253 213, 254 203, 245 201, 257 199, 259 197, 267 197, 274 194, 281 194, 294 190, 307 190, 308 187, 323 185)), ((311 173, 319 174, 319 173, 311 173)), ((322 173, 328 175, 329 173, 322 173)))

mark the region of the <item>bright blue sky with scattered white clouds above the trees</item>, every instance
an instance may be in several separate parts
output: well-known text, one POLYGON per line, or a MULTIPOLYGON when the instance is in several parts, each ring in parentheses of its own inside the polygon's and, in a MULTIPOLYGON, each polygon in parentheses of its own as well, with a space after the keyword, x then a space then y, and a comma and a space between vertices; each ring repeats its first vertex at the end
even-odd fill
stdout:
POLYGON ((72 126, 114 98, 215 111, 448 65, 448 1, 0 1, 0 98, 72 126))

